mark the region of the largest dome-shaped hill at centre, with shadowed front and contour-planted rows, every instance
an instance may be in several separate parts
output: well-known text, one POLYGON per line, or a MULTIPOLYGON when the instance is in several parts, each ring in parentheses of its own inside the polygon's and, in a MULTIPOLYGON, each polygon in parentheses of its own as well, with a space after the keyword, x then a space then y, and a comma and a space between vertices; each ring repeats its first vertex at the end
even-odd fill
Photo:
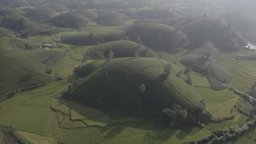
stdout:
POLYGON ((172 65, 171 74, 163 80, 168 62, 155 58, 114 58, 102 64, 73 86, 79 95, 97 99, 123 110, 161 112, 174 103, 189 111, 201 100, 193 86, 185 82, 181 70, 172 65), (141 95, 139 86, 146 91, 141 95))

